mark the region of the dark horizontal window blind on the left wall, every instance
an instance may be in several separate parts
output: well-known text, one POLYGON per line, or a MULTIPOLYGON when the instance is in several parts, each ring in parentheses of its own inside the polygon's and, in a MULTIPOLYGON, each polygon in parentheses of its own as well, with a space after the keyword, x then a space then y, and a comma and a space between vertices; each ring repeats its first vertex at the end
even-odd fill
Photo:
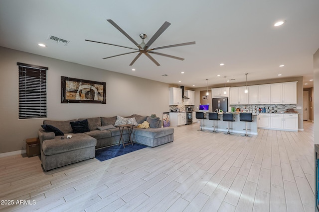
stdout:
POLYGON ((48 68, 19 66, 19 119, 46 118, 46 75, 48 68))

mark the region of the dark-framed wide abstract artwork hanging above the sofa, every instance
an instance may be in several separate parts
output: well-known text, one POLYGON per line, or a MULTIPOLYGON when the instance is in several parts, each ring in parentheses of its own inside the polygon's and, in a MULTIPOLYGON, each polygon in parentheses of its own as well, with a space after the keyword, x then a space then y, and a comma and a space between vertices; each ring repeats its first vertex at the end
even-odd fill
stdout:
POLYGON ((106 82, 61 76, 61 103, 106 104, 106 82))

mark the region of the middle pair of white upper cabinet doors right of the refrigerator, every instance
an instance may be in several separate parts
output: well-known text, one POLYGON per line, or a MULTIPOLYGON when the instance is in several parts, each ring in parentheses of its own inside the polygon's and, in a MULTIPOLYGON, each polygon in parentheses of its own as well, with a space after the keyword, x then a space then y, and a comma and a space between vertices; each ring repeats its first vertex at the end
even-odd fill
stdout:
POLYGON ((270 104, 270 85, 248 86, 249 104, 270 104))

